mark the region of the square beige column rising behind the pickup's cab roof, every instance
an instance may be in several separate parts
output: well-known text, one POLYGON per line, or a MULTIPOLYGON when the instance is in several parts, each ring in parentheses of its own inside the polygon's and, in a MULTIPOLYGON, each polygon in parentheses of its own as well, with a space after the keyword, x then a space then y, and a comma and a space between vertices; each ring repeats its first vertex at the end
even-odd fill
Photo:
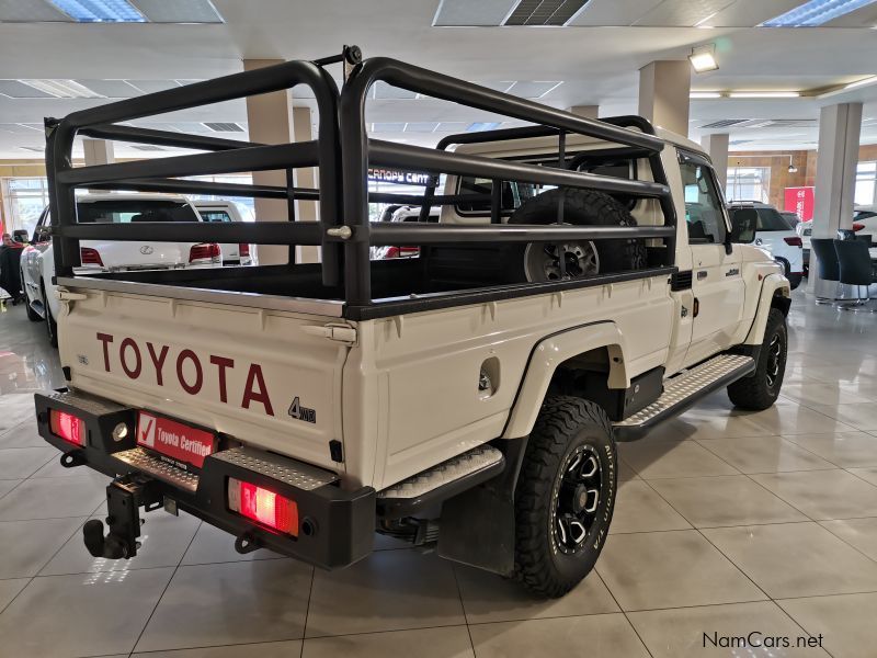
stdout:
POLYGON ((692 66, 682 61, 652 61, 639 69, 639 113, 656 126, 688 135, 688 95, 692 66))

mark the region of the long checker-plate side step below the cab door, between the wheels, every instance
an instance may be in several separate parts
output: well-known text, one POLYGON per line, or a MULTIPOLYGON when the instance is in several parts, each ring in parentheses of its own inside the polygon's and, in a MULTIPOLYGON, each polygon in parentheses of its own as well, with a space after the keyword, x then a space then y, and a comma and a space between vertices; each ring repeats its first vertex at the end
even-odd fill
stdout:
POLYGON ((645 409, 613 424, 624 429, 645 428, 653 424, 658 420, 673 416, 688 407, 708 393, 748 375, 754 367, 755 360, 752 356, 742 354, 714 356, 709 361, 667 379, 661 397, 645 409))

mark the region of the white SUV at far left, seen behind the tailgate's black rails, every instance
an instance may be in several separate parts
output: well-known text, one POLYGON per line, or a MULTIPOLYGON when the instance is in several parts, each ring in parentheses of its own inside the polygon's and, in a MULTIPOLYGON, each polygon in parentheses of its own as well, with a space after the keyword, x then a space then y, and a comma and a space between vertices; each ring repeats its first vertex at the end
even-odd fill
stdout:
MULTIPOLYGON (((77 217, 81 224, 133 222, 201 222, 201 216, 185 196, 170 194, 87 194, 77 197, 77 217)), ((122 242, 82 240, 81 268, 88 272, 123 270, 172 270, 180 268, 219 268, 223 252, 216 242, 122 242)), ((55 291, 55 257, 52 248, 52 216, 43 211, 31 245, 21 257, 21 282, 27 318, 46 320, 49 340, 57 347, 55 318, 60 302, 55 291)))

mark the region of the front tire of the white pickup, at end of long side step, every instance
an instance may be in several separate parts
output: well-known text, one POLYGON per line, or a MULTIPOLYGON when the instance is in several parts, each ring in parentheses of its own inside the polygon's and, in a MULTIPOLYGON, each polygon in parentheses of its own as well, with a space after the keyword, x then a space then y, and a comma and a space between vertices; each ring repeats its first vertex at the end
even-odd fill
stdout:
POLYGON ((728 386, 728 397, 742 409, 762 411, 773 406, 779 397, 783 387, 783 376, 786 372, 786 355, 788 351, 788 329, 786 316, 778 308, 772 308, 767 314, 764 327, 764 341, 759 350, 759 360, 755 372, 748 377, 738 379, 728 386), (778 353, 775 351, 778 341, 778 353), (778 359, 778 361, 776 361, 778 359), (777 367, 778 366, 778 367, 777 367), (775 371, 776 372, 768 372, 775 371))

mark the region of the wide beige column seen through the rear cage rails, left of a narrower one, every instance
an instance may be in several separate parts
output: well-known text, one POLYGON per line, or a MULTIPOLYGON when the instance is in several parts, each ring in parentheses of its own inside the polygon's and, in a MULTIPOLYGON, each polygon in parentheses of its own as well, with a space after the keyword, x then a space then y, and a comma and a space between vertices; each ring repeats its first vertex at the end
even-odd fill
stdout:
MULTIPOLYGON (((251 71, 282 61, 282 59, 244 59, 243 70, 251 71)), ((291 105, 287 90, 249 97, 247 99, 247 123, 250 140, 261 144, 288 144, 292 141, 291 105)), ((286 186, 286 172, 253 171, 253 183, 286 186)), ((283 200, 255 198, 254 203, 257 222, 286 222, 288 219, 286 202, 283 200)), ((261 265, 276 265, 289 261, 289 250, 283 245, 259 245, 257 250, 261 265)))

